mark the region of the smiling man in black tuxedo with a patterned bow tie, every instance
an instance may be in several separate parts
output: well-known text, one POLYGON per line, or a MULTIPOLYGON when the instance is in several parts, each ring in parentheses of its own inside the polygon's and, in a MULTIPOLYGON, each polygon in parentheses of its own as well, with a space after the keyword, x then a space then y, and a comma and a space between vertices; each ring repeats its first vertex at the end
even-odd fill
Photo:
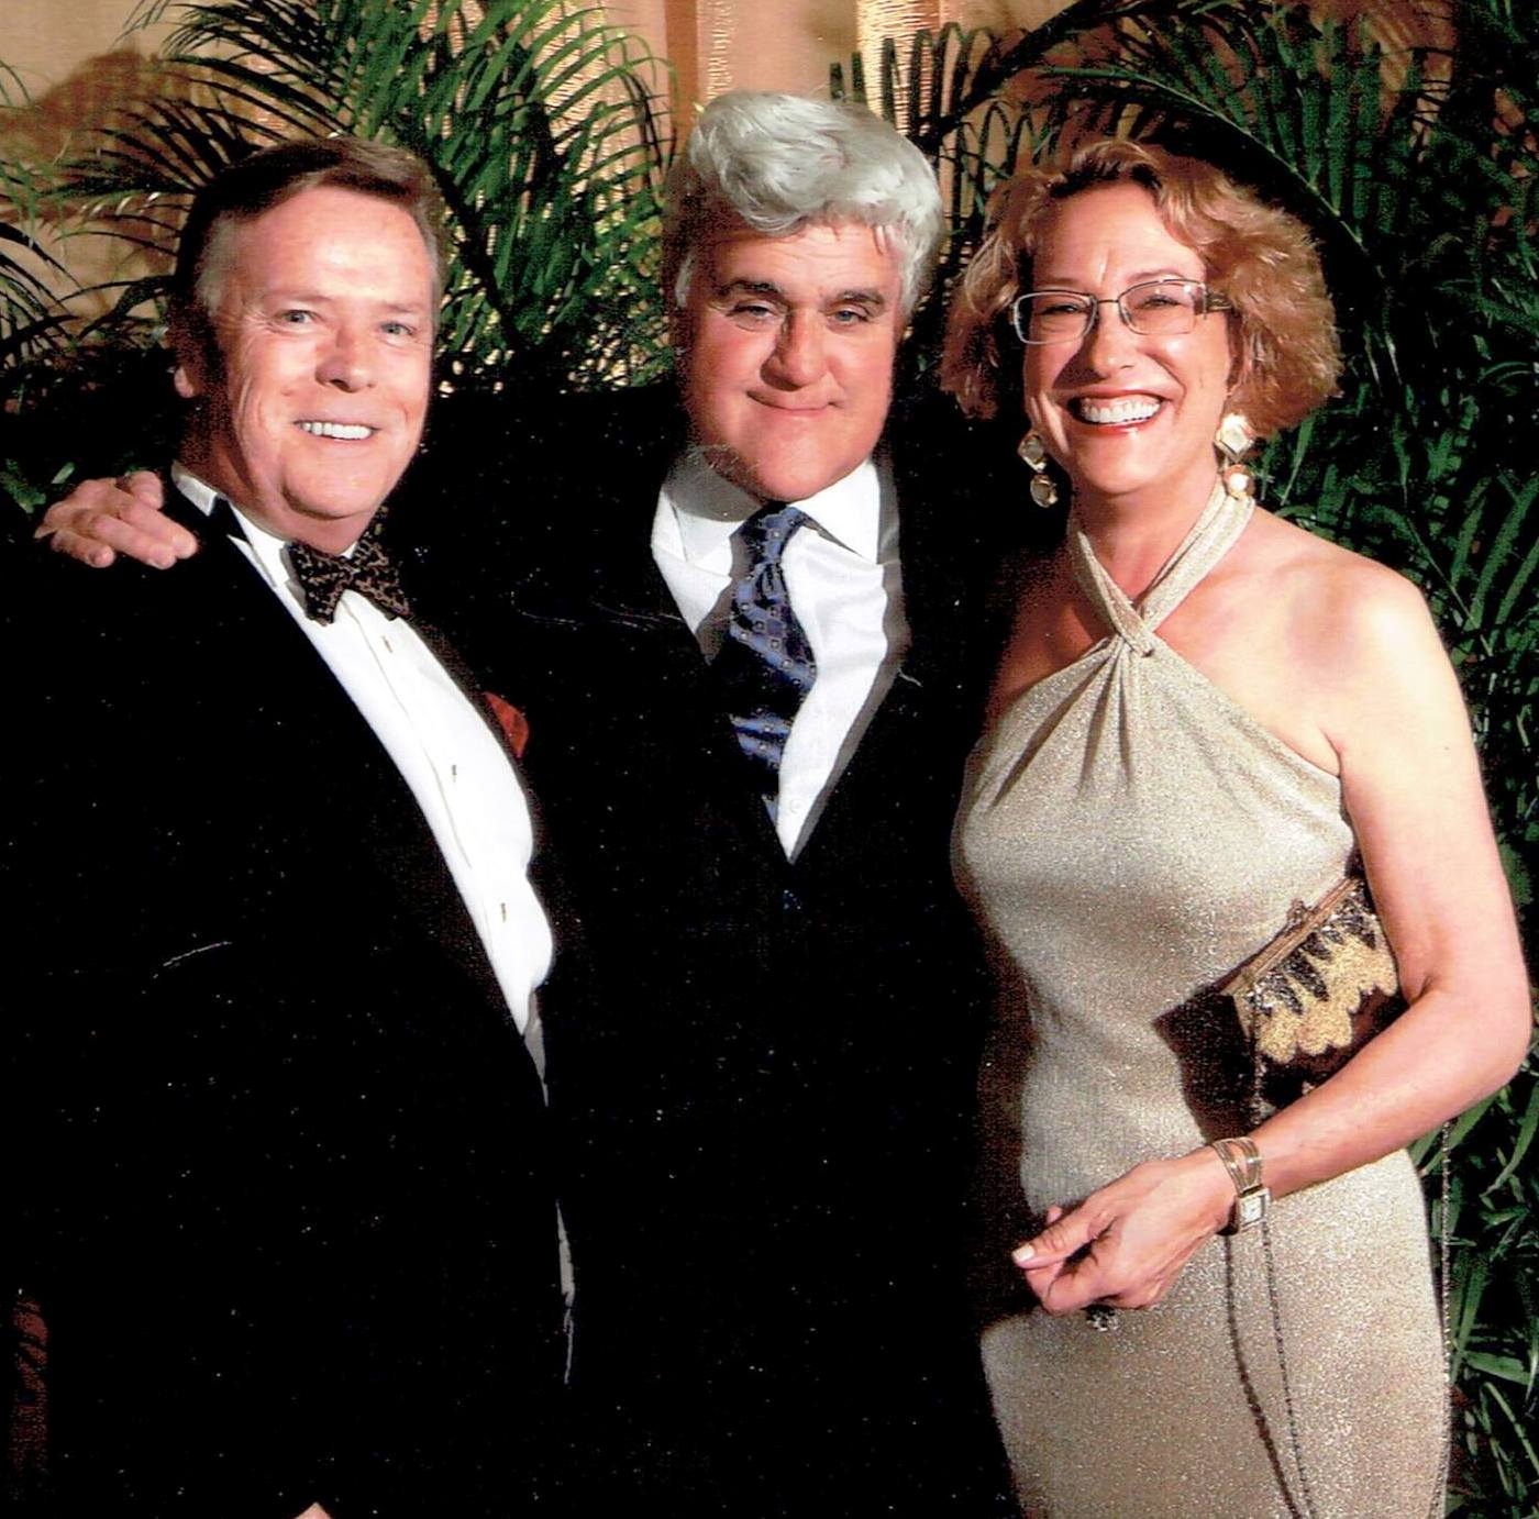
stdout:
POLYGON ((48 651, 12 662, 3 862, 48 1513, 540 1496, 562 1345, 531 819, 374 531, 422 432, 440 237, 396 149, 225 171, 174 314, 166 499, 200 553, 12 568, 12 653, 48 651))

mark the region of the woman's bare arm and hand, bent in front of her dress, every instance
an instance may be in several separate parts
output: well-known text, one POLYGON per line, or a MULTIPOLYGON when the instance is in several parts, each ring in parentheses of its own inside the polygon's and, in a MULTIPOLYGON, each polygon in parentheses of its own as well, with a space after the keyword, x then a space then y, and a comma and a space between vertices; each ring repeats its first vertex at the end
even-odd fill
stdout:
MULTIPOLYGON (((1325 614, 1311 623, 1310 689, 1408 1007, 1328 1082, 1256 1128, 1277 1196, 1376 1160, 1461 1113, 1508 1080, 1531 1034, 1468 719, 1420 596, 1340 556, 1325 614)), ((1208 1150, 1150 1160, 1071 1211, 1054 1210, 1017 1264, 1050 1311, 1145 1307, 1224 1225, 1231 1199, 1208 1150)))

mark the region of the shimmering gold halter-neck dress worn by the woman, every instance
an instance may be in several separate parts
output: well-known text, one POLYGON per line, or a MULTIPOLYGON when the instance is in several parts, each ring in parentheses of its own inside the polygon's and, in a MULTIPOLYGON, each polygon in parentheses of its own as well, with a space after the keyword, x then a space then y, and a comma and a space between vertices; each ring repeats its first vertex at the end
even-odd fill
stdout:
POLYGON ((1113 1333, 1033 1311, 1008 1267, 1050 1204, 1244 1131, 1234 1011, 1213 988, 1353 853, 1337 779, 1156 634, 1251 509, 1217 488, 1137 611, 1071 523, 1113 631, 983 739, 957 823, 1003 973, 980 1291, 1028 1514, 1419 1519, 1439 1481, 1442 1350, 1404 1151, 1274 1205, 1280 1356, 1259 1230, 1210 1240, 1113 1333))

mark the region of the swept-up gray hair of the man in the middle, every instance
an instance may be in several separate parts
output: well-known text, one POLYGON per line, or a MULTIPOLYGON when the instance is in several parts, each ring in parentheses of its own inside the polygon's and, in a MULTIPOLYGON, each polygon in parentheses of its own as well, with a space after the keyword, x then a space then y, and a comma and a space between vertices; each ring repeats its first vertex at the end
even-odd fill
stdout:
POLYGON ((913 311, 945 225, 925 155, 865 106, 729 91, 700 112, 669 174, 663 289, 683 306, 696 254, 725 228, 790 237, 834 222, 863 223, 893 248, 913 311))

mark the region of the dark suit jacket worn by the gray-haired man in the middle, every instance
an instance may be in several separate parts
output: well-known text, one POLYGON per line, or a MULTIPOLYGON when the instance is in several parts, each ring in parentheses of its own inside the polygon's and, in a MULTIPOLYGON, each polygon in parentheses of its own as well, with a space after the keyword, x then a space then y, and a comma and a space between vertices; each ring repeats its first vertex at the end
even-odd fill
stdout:
POLYGON ((673 1514, 994 1511, 959 1285, 983 965, 948 842, 1023 491, 946 419, 891 436, 913 648, 794 863, 651 559, 666 397, 509 439, 514 531, 442 574, 529 720, 559 873, 542 1005, 591 1511, 603 1473, 673 1514))

